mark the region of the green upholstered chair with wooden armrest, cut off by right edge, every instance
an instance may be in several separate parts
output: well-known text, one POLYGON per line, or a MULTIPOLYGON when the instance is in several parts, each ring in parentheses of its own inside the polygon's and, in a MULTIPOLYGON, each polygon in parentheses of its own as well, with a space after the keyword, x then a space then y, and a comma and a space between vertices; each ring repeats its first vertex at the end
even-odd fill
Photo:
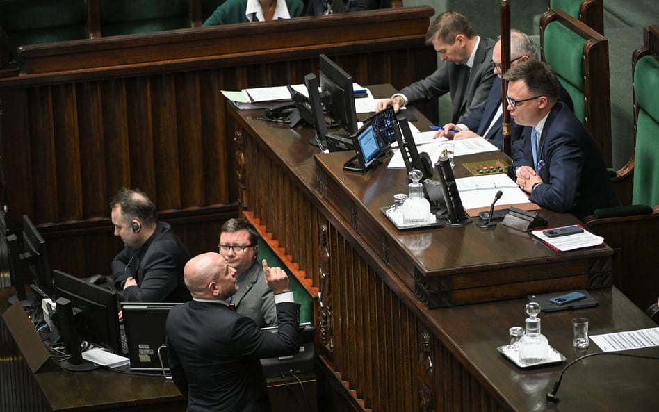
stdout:
POLYGON ((599 209, 584 222, 615 251, 613 284, 645 309, 659 297, 659 56, 645 47, 633 55, 633 91, 635 154, 621 177, 633 176, 635 206, 599 209))

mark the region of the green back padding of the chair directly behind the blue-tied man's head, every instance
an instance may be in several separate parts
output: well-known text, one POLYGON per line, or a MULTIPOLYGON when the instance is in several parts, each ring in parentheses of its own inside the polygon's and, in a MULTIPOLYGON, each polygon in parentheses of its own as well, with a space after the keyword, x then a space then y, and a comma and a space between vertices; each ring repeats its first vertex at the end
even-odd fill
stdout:
POLYGON ((559 22, 544 31, 544 60, 553 67, 558 80, 572 98, 574 115, 585 123, 583 46, 585 40, 559 22))

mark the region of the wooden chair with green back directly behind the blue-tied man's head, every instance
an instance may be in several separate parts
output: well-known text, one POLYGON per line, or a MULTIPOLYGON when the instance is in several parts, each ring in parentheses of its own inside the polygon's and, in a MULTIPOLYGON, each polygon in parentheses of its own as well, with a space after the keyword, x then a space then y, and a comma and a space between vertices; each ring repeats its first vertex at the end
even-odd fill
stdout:
POLYGON ((540 18, 542 60, 553 67, 569 92, 574 114, 612 165, 608 40, 563 10, 540 18))

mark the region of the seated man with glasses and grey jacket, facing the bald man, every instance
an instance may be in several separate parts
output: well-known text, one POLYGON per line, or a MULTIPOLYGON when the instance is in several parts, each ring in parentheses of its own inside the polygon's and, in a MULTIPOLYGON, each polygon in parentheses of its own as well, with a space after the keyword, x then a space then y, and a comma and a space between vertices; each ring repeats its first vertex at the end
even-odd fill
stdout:
POLYGON ((264 281, 263 267, 257 262, 259 233, 244 219, 230 219, 220 229, 218 249, 236 270, 238 292, 227 299, 236 312, 254 320, 259 327, 277 324, 275 295, 264 281))

